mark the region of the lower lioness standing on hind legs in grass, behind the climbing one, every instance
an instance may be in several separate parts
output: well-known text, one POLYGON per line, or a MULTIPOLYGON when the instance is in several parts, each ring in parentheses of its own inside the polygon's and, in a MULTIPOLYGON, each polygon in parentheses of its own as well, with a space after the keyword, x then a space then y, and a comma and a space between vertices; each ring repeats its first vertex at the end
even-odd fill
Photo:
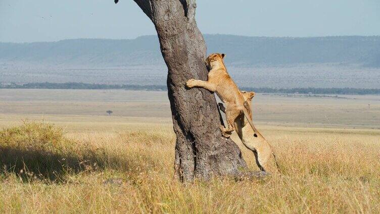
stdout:
MULTIPOLYGON (((252 117, 252 109, 251 109, 251 102, 252 98, 255 96, 255 92, 246 92, 242 91, 244 100, 248 104, 248 114, 249 117, 252 117)), ((223 103, 219 103, 219 108, 222 112, 225 112, 225 108, 223 106, 223 103)), ((242 140, 243 144, 253 151, 256 159, 256 164, 260 168, 261 171, 266 171, 268 161, 270 159, 270 156, 273 155, 274 162, 276 164, 276 167, 278 169, 278 164, 276 160, 276 156, 273 152, 273 149, 271 145, 268 143, 267 140, 260 134, 260 132, 256 132, 257 137, 253 137, 254 132, 252 131, 251 127, 247 126, 247 121, 244 120, 244 116, 240 115, 236 118, 234 122, 234 126, 236 129, 237 135, 239 135, 239 138, 242 140)))

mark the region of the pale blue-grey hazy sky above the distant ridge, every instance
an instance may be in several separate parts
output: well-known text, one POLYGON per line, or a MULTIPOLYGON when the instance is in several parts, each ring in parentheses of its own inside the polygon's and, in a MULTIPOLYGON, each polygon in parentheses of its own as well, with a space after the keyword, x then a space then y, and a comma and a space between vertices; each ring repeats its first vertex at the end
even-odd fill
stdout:
MULTIPOLYGON (((379 0, 198 0, 203 33, 380 35, 379 0)), ((132 0, 0 0, 0 41, 135 38, 155 34, 132 0)))

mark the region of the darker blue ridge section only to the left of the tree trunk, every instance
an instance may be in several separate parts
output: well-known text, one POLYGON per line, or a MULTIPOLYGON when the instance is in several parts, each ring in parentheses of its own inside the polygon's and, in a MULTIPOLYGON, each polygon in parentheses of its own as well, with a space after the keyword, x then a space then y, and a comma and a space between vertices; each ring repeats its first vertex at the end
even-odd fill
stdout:
POLYGON ((136 39, 68 39, 0 43, 0 62, 48 65, 124 66, 163 62, 157 36, 136 39))

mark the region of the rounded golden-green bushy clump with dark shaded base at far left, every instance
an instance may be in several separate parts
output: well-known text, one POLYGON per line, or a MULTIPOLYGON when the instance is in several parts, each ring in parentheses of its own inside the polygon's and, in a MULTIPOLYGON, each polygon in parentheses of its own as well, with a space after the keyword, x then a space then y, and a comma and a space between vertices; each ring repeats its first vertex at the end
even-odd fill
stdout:
POLYGON ((61 128, 41 122, 0 131, 0 164, 3 172, 25 178, 62 178, 67 173, 98 167, 100 153, 89 144, 64 136, 61 128))

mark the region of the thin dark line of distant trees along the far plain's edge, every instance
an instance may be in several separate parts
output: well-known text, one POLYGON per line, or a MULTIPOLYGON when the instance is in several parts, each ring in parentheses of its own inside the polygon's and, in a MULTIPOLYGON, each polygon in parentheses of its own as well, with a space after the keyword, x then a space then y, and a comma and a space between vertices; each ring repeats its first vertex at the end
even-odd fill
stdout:
MULTIPOLYGON (((0 84, 0 88, 39 88, 39 89, 124 89, 124 90, 147 90, 147 91, 166 91, 166 85, 109 85, 92 83, 25 83, 25 84, 0 84)), ((380 89, 367 88, 251 88, 242 87, 242 90, 255 91, 257 93, 301 93, 301 94, 380 94, 380 89)))

